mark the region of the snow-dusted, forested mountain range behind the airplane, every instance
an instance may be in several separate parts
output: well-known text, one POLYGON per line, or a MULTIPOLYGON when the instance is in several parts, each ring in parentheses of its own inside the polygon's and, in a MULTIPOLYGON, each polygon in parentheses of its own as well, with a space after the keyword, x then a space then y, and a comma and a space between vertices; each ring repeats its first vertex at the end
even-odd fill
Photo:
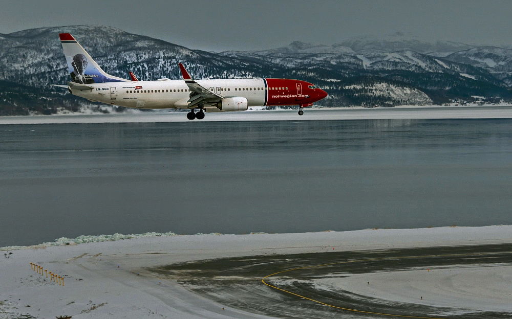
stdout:
POLYGON ((106 72, 123 78, 132 71, 141 80, 180 79, 178 62, 182 62, 197 79, 310 81, 329 93, 319 103, 324 106, 442 103, 472 95, 512 97, 508 89, 512 51, 504 48, 395 34, 334 45, 295 41, 271 50, 215 53, 112 27, 69 26, 0 34, 0 115, 52 113, 88 103, 51 86, 69 80, 61 32, 72 33, 106 72))

